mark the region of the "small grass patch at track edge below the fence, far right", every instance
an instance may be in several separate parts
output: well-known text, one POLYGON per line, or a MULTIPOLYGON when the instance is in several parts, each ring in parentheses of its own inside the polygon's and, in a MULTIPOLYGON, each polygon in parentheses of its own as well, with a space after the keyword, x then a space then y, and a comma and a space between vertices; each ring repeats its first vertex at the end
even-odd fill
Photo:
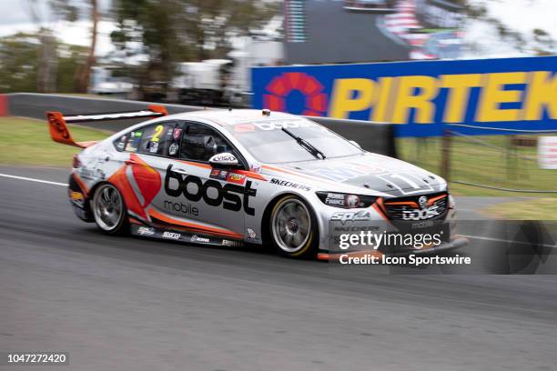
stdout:
POLYGON ((486 207, 483 214, 508 220, 557 220, 557 198, 541 197, 486 207))

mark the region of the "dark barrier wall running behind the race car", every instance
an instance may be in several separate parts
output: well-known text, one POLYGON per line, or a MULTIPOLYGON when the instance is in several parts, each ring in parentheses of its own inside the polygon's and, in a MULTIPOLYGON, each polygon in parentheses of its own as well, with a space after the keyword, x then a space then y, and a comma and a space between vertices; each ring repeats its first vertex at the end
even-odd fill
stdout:
MULTIPOLYGON (((46 111, 60 111, 65 115, 95 114, 100 112, 132 111, 152 105, 150 102, 111 99, 107 97, 88 97, 72 95, 46 95, 35 93, 14 93, 7 97, 6 115, 45 119, 46 111)), ((169 114, 191 112, 204 109, 193 105, 167 105, 169 114)), ((218 108, 211 108, 218 109, 218 108)), ((362 148, 381 155, 396 156, 393 125, 372 123, 369 121, 340 120, 329 117, 308 117, 320 125, 358 142, 362 148)), ((137 119, 83 123, 98 129, 119 131, 129 125, 136 124, 137 119)))

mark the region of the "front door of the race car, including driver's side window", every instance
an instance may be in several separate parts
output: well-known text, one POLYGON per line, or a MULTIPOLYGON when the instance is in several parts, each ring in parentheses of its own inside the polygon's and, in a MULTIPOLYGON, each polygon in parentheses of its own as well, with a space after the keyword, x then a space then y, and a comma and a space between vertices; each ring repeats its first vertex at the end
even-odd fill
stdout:
POLYGON ((225 152, 240 158, 237 150, 210 125, 185 122, 182 127, 178 159, 167 166, 165 210, 195 221, 200 234, 223 232, 241 238, 249 202, 246 178, 232 169, 213 169, 208 162, 211 156, 225 152))

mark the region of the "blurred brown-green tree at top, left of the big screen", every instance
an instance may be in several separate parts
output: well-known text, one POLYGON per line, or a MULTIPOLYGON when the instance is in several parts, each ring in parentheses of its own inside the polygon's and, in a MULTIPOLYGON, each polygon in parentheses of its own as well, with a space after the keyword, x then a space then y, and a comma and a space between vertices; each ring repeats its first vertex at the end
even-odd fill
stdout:
POLYGON ((147 55, 140 86, 169 82, 177 62, 225 57, 232 37, 248 35, 278 10, 276 2, 255 0, 114 0, 113 7, 113 43, 147 55))

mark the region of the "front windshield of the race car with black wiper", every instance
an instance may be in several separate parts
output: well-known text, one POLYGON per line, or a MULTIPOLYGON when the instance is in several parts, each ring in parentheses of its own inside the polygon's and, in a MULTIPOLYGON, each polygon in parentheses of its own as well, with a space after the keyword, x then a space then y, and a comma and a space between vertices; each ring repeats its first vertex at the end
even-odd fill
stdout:
POLYGON ((281 130, 283 127, 317 148, 327 158, 360 155, 363 152, 343 137, 309 120, 277 120, 237 124, 231 129, 231 133, 248 149, 251 155, 262 163, 320 161, 299 145, 296 139, 281 130))

